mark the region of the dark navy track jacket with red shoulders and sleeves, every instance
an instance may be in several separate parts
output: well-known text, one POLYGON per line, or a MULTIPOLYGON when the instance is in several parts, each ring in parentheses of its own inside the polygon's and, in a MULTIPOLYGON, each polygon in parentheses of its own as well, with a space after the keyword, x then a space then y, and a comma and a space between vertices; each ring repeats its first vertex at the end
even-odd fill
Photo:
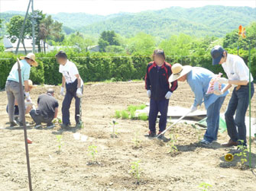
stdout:
POLYGON ((145 88, 151 90, 151 98, 154 100, 164 100, 168 91, 173 92, 177 89, 177 81, 170 83, 168 81, 171 72, 171 65, 164 62, 164 65, 157 69, 155 62, 149 62, 145 75, 145 88))

